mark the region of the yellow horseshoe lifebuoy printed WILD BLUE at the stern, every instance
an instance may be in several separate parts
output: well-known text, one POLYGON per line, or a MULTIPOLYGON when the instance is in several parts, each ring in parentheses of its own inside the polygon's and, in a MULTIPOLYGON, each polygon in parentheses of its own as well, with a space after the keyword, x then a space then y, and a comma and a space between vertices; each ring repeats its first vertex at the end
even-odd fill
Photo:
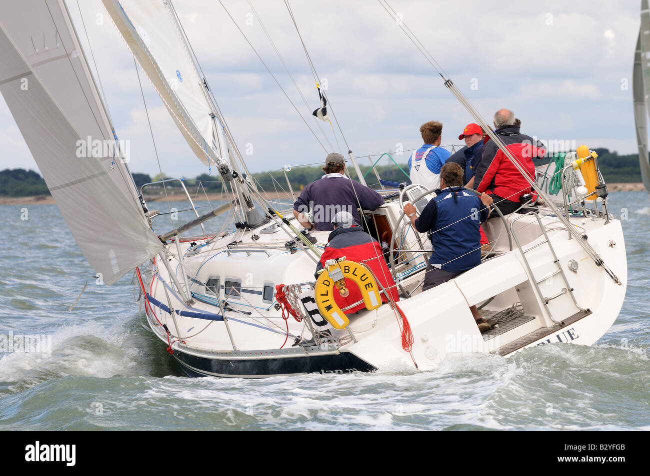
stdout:
POLYGON ((324 271, 318 276, 316 286, 314 288, 314 297, 320 314, 328 321, 335 329, 345 329, 346 325, 350 323, 345 313, 334 301, 334 285, 336 282, 341 282, 342 279, 332 279, 330 273, 336 272, 337 275, 343 273, 343 277, 354 282, 361 292, 363 303, 368 310, 373 310, 382 305, 382 299, 379 295, 379 287, 372 273, 363 264, 342 260, 337 264, 325 266, 324 271), (340 271, 339 271, 340 269, 340 271))

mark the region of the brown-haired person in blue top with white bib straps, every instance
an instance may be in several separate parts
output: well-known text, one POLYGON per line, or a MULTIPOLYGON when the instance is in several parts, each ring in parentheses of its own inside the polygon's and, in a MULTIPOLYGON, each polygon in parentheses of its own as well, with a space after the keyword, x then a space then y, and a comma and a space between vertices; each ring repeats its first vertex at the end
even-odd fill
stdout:
POLYGON ((450 156, 449 151, 440 147, 443 124, 429 121, 420 127, 424 145, 414 151, 408 160, 411 183, 422 185, 426 190, 440 186, 440 169, 450 156))

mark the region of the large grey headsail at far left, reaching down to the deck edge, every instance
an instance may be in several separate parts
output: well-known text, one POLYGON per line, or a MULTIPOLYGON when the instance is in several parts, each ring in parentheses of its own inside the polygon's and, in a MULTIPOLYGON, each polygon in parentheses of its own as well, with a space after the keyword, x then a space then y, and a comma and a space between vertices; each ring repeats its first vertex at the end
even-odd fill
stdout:
POLYGON ((127 187, 131 177, 120 175, 122 162, 111 168, 112 157, 80 153, 88 136, 105 137, 107 121, 94 85, 82 74, 87 64, 63 0, 3 1, 2 7, 0 92, 79 248, 112 284, 162 244, 133 185, 127 187))

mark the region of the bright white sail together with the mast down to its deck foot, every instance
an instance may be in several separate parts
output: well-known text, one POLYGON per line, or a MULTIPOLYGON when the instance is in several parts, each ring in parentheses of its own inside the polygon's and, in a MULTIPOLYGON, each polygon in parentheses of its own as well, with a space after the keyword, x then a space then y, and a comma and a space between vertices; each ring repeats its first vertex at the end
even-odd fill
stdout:
POLYGON ((200 73, 172 2, 101 1, 196 157, 207 166, 220 166, 224 185, 230 184, 241 205, 241 222, 252 226, 265 221, 251 198, 255 184, 200 73))

